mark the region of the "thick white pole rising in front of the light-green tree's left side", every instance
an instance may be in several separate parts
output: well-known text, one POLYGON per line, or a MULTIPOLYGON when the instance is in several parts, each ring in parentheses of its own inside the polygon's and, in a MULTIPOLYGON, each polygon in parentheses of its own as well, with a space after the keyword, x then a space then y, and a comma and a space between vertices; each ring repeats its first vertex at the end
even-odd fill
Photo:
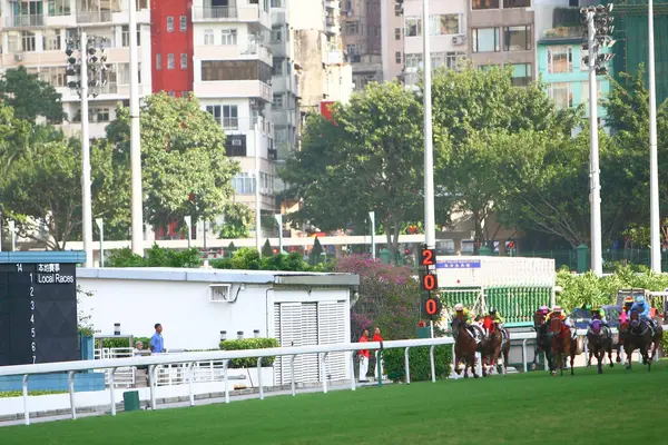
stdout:
POLYGON ((132 254, 144 256, 144 197, 141 191, 141 142, 139 138, 139 62, 137 48, 137 4, 128 0, 130 30, 130 172, 132 254))

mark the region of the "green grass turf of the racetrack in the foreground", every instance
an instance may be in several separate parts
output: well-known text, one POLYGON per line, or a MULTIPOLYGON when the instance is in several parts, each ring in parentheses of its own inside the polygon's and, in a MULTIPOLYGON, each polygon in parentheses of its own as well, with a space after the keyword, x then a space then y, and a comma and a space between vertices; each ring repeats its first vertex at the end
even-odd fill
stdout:
POLYGON ((662 444, 668 362, 386 385, 0 428, 0 444, 662 444))

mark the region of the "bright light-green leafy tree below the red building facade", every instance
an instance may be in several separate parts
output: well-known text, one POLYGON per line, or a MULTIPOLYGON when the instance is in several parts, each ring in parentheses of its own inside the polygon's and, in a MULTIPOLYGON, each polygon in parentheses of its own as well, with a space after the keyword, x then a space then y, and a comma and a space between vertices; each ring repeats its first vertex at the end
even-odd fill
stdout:
MULTIPOLYGON (((107 138, 129 169, 129 110, 118 108, 107 138)), ((145 218, 154 226, 184 217, 213 220, 226 209, 238 164, 225 156, 225 134, 194 98, 166 93, 146 99, 141 110, 141 177, 145 218)), ((129 177, 125 185, 129 189, 129 177)), ((129 204, 124 202, 129 207, 129 204)))

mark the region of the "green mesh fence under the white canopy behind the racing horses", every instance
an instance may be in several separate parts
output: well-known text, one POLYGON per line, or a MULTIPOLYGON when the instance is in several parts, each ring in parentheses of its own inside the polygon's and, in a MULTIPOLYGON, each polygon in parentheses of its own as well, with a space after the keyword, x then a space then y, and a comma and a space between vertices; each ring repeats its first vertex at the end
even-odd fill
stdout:
MULTIPOLYGON (((449 310, 461 303, 468 308, 474 308, 480 298, 480 288, 445 288, 441 293, 442 301, 449 310)), ((503 318, 505 326, 532 326, 533 313, 542 305, 550 305, 551 287, 533 286, 495 286, 484 289, 487 308, 495 307, 503 318)))

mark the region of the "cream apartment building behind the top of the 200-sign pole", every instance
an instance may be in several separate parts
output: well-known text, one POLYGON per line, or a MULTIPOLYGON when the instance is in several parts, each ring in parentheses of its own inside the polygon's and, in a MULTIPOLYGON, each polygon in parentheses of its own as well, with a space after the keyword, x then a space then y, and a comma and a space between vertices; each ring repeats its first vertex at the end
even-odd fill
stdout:
MULTIPOLYGON (((429 29, 432 69, 455 69, 466 58, 466 3, 468 0, 446 2, 430 0, 429 27, 423 24, 422 0, 405 0, 403 79, 406 86, 415 85, 423 66, 423 32, 429 29)), ((396 30, 395 30, 396 32, 396 30)), ((395 61, 401 58, 395 50, 395 61)), ((399 63, 395 63, 399 66, 399 63)), ((395 68, 396 69, 396 68, 395 68)))

